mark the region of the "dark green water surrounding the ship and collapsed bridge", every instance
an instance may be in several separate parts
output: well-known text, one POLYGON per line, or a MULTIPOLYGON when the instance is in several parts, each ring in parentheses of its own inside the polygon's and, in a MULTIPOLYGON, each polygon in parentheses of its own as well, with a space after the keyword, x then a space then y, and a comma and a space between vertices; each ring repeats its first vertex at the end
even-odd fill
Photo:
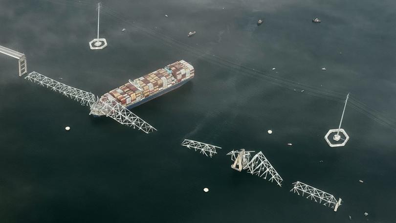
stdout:
POLYGON ((109 45, 92 51, 95 6, 63 2, 0 0, 0 45, 24 52, 29 71, 97 95, 181 59, 196 77, 133 109, 158 129, 144 134, 89 116, 88 107, 18 77, 17 61, 0 55, 1 222, 396 222, 395 131, 347 106, 343 128, 351 139, 330 148, 323 136, 338 126, 340 100, 208 62, 216 55, 271 77, 350 91, 392 120, 395 1, 102 1, 199 53, 166 45, 106 10, 100 36, 109 45), (315 17, 322 23, 313 24, 315 17), (181 147, 184 138, 222 149, 202 156, 181 147), (241 148, 262 151, 283 186, 232 170, 225 154, 241 148), (333 212, 289 192, 296 180, 343 205, 333 212))

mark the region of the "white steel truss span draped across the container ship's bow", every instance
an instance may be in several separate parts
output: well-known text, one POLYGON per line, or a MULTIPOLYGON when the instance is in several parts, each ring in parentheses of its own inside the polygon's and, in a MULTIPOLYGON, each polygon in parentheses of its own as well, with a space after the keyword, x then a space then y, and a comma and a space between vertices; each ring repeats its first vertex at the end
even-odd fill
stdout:
POLYGON ((129 111, 127 108, 122 106, 120 103, 108 99, 108 100, 97 100, 90 108, 89 114, 93 115, 106 115, 116 120, 122 125, 128 127, 137 128, 147 134, 156 131, 156 129, 137 115, 129 111))

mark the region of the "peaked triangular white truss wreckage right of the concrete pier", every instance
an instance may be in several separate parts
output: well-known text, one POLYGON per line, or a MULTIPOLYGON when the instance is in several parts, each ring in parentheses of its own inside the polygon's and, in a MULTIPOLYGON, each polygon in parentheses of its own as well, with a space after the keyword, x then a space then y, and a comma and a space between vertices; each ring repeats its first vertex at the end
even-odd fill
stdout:
POLYGON ((271 176, 271 178, 268 179, 269 181, 273 182, 275 180, 279 186, 282 186, 281 182, 283 179, 261 151, 254 155, 246 166, 248 173, 257 175, 264 179, 266 179, 269 174, 271 176))

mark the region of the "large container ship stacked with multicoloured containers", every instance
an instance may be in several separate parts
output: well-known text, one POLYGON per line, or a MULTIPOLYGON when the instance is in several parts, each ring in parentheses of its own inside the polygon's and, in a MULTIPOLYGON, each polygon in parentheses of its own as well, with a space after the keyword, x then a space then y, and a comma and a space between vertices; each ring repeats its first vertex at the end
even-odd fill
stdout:
POLYGON ((110 90, 100 100, 112 99, 127 109, 132 109, 162 94, 174 90, 194 77, 194 67, 184 60, 146 74, 110 90))

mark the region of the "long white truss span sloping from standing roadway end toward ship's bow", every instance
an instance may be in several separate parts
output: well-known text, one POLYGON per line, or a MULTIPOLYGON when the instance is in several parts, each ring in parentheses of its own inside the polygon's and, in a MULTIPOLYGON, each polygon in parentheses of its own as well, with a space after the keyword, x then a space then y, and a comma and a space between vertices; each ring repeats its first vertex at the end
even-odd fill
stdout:
POLYGON ((84 106, 92 106, 96 101, 95 95, 90 92, 67 86, 35 71, 29 73, 25 79, 37 83, 43 87, 58 91, 66 97, 70 97, 71 99, 80 102, 81 105, 84 106))

